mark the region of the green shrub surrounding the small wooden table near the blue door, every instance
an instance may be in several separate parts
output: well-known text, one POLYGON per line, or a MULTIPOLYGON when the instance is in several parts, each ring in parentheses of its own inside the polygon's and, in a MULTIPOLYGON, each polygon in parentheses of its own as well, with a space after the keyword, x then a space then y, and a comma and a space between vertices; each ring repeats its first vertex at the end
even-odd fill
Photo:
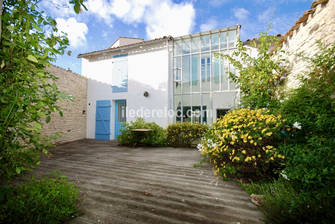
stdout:
POLYGON ((165 130, 157 125, 155 122, 145 122, 144 118, 137 117, 136 121, 124 122, 120 129, 120 134, 117 136, 117 140, 122 145, 135 146, 136 144, 148 144, 151 146, 165 146, 166 134, 165 130), (133 129, 152 129, 151 132, 147 133, 135 133, 130 130, 133 129), (139 138, 140 135, 145 135, 145 138, 139 138))

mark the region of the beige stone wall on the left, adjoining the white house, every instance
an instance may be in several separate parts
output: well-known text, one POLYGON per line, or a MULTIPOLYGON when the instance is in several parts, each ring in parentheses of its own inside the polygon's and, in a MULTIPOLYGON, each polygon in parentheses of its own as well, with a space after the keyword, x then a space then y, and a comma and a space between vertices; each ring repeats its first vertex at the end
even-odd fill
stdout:
POLYGON ((59 102, 58 105, 65 108, 63 117, 59 113, 53 113, 48 124, 42 121, 41 134, 52 135, 60 131, 66 133, 62 138, 53 140, 55 145, 86 138, 87 78, 55 65, 46 70, 59 78, 55 81, 58 90, 71 94, 75 102, 59 102))

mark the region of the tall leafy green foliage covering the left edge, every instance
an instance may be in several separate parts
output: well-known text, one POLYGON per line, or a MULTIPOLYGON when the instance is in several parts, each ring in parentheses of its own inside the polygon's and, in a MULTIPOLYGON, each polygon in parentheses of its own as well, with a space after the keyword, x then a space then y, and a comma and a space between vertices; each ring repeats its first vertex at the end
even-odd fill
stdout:
MULTIPOLYGON (((10 179, 36 167, 42 151, 48 154, 54 137, 42 136, 41 120, 50 122, 72 100, 57 89, 57 77, 45 71, 57 55, 67 53, 66 33, 57 34, 56 21, 38 10, 34 0, 4 0, 0 39, 0 177, 10 179)), ((74 0, 77 13, 83 0, 74 0)), ((86 7, 84 7, 86 9, 86 7)))

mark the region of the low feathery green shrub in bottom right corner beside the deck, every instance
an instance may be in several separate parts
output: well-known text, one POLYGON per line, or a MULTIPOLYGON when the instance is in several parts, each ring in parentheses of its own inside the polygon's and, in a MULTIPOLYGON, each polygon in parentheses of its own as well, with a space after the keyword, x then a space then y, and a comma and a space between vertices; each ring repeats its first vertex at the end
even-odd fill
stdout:
POLYGON ((306 197, 301 183, 279 178, 263 183, 259 187, 260 210, 267 216, 269 223, 334 223, 334 210, 327 207, 324 200, 317 197, 306 197))

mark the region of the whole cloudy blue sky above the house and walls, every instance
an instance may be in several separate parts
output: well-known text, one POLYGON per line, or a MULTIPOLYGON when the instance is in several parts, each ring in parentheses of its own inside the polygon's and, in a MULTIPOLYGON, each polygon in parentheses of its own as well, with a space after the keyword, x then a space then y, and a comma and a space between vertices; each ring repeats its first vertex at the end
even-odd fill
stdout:
POLYGON ((285 34, 310 8, 311 0, 88 0, 78 15, 66 0, 42 1, 39 8, 68 33, 71 56, 55 63, 81 74, 78 54, 110 47, 119 36, 152 40, 241 24, 243 41, 266 30, 273 12, 271 34, 285 34), (56 4, 63 7, 59 7, 56 4))

